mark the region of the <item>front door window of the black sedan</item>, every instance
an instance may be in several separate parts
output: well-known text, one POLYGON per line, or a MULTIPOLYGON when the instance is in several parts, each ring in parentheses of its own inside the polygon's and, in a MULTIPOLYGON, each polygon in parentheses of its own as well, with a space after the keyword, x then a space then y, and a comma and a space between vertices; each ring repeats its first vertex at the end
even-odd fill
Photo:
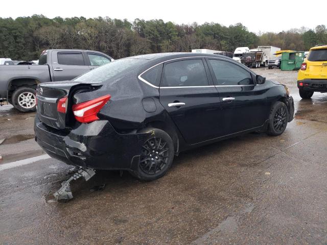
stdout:
POLYGON ((250 85, 253 84, 250 72, 231 62, 222 60, 209 60, 217 85, 250 85))

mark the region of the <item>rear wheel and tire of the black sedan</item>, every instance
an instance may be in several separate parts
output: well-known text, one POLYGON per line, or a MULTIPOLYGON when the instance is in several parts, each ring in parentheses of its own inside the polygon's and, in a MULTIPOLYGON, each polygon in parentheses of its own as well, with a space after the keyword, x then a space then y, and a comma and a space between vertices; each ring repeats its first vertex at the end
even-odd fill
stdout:
POLYGON ((152 181, 164 176, 174 159, 174 143, 165 131, 147 128, 139 133, 148 133, 145 142, 139 146, 140 158, 136 170, 131 174, 139 180, 152 181))

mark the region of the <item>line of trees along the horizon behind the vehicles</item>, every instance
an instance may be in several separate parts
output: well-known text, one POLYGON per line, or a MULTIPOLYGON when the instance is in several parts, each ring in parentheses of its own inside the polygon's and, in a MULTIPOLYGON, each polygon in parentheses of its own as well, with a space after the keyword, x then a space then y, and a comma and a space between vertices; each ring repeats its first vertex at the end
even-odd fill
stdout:
POLYGON ((175 24, 161 19, 144 20, 72 17, 53 19, 43 15, 0 18, 0 57, 38 59, 49 48, 101 51, 115 59, 161 52, 190 52, 196 48, 233 52, 236 47, 273 45, 283 50, 307 51, 327 43, 327 29, 302 27, 279 33, 249 32, 241 23, 175 24))

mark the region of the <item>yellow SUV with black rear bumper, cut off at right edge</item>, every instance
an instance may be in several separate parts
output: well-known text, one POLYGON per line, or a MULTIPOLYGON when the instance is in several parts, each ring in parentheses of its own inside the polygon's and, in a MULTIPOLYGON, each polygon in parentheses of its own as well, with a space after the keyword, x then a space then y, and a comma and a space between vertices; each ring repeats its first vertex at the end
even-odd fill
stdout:
POLYGON ((314 92, 327 92, 327 45, 310 48, 298 71, 297 87, 303 99, 310 99, 314 92))

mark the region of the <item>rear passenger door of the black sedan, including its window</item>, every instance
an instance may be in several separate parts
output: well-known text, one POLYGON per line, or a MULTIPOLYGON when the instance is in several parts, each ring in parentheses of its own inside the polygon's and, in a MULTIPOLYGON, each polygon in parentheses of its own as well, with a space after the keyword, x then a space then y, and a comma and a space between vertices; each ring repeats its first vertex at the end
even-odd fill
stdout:
POLYGON ((164 65, 160 103, 188 144, 222 135, 218 92, 204 59, 189 58, 164 65))

